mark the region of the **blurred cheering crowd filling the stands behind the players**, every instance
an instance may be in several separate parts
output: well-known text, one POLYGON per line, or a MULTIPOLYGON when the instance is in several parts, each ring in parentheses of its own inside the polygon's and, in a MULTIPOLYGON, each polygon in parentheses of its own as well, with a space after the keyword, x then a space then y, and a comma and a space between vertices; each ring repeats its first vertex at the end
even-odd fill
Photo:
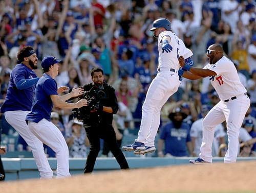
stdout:
MULTIPOLYGON (((157 39, 148 29, 155 19, 163 17, 193 51, 195 66, 207 63, 209 45, 223 46, 251 100, 240 140, 252 140, 256 137, 255 5, 255 0, 0 1, 0 102, 5 99, 11 70, 18 63, 17 52, 25 45, 33 46, 36 51, 38 77, 42 75, 42 58, 62 59, 56 77, 58 86, 72 89, 89 83, 90 69, 99 66, 105 81, 116 90, 119 111, 113 124, 117 139, 121 140, 140 125, 141 107, 158 66, 157 39)), ((155 144, 161 150, 156 156, 198 156, 202 118, 218 102, 219 96, 209 78, 202 81, 183 78, 177 93, 162 108, 160 139, 155 144), (178 116, 182 120, 179 127, 173 123, 178 116), (170 137, 165 128, 174 125, 174 135, 170 137)), ((52 121, 65 136, 70 157, 86 157, 89 141, 82 123, 73 121, 71 110, 56 107, 53 110, 52 121)), ((3 115, 1 126, 2 135, 15 135, 3 115)), ((15 150, 22 144, 21 149, 29 151, 24 142, 19 137, 15 150)), ((223 124, 216 129, 213 155, 225 155, 226 144, 223 124)), ((46 147, 48 156, 54 157, 51 151, 46 147)), ((255 156, 254 151, 256 143, 243 143, 240 156, 255 156)))

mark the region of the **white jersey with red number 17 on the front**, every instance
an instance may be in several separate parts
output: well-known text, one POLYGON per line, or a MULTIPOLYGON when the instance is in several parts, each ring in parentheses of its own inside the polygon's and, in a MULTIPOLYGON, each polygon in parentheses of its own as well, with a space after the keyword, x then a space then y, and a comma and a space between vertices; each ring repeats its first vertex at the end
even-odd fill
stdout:
POLYGON ((233 62, 223 56, 215 64, 207 64, 205 69, 215 71, 217 76, 210 77, 210 83, 217 91, 221 100, 230 99, 246 92, 239 80, 238 72, 233 62))

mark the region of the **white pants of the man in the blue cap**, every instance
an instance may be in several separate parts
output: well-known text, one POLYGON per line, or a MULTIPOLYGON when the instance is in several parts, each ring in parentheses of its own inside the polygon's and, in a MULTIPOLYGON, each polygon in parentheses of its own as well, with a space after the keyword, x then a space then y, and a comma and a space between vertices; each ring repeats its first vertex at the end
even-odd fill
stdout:
POLYGON ((29 122, 29 130, 43 143, 52 148, 57 158, 57 178, 68 177, 69 148, 59 129, 49 120, 43 118, 40 122, 29 122))

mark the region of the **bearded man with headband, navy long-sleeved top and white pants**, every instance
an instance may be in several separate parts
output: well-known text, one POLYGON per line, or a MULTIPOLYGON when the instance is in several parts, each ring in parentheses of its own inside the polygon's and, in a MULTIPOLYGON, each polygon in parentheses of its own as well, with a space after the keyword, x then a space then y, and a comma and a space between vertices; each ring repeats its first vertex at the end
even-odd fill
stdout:
POLYGON ((45 156, 42 142, 32 134, 25 122, 31 111, 35 84, 39 80, 33 69, 37 68, 37 56, 31 46, 25 46, 17 54, 21 62, 10 76, 5 101, 1 107, 7 122, 18 132, 31 147, 41 178, 51 178, 53 172, 45 156))

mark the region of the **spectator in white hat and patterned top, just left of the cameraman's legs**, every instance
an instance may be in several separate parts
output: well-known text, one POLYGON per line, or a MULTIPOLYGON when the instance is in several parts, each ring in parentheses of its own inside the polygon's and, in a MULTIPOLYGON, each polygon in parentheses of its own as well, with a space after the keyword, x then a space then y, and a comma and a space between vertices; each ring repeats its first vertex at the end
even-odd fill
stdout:
POLYGON ((87 157, 87 147, 90 142, 83 129, 83 123, 77 118, 70 120, 70 132, 67 133, 66 142, 69 147, 69 157, 87 157))

